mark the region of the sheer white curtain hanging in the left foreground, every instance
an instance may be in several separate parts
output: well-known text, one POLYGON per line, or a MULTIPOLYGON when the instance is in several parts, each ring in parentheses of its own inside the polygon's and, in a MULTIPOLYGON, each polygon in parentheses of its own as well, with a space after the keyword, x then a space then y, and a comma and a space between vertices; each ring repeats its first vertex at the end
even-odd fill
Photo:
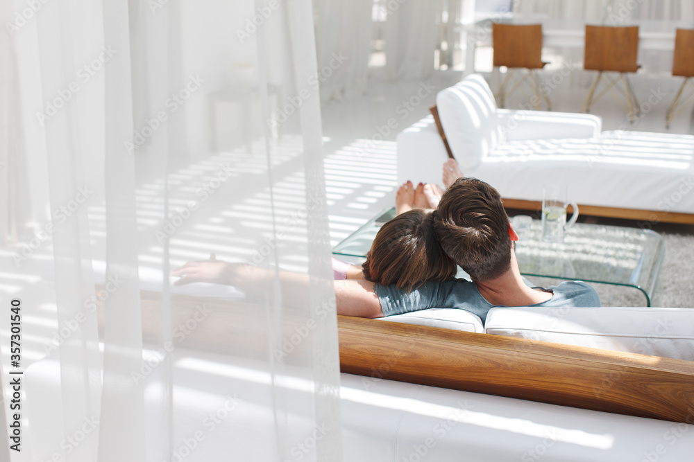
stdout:
MULTIPOLYGON (((27 393, 26 451, 341 460, 311 2, 35 3, 6 3, 24 20, 0 55, 2 95, 11 72, 26 96, 0 100, 0 132, 26 145, 3 139, 0 161, 37 204, 33 218, 12 208, 2 177, 0 212, 29 242, 49 236, 17 263, 47 301, 17 294, 56 307, 44 344, 61 339, 27 373, 60 364, 27 393), (171 285, 171 269, 208 258, 211 283, 171 285), (56 389, 50 409, 31 406, 56 389), (98 430, 53 444, 85 419, 98 430)), ((0 274, 21 249, 3 248, 0 274)))

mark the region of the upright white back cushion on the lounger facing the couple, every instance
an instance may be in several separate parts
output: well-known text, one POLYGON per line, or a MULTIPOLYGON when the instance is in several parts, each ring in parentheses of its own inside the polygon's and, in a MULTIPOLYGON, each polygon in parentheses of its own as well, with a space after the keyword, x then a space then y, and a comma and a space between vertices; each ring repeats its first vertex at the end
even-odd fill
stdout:
POLYGON ((471 170, 500 142, 494 95, 481 75, 472 74, 436 97, 448 145, 460 169, 471 170))

